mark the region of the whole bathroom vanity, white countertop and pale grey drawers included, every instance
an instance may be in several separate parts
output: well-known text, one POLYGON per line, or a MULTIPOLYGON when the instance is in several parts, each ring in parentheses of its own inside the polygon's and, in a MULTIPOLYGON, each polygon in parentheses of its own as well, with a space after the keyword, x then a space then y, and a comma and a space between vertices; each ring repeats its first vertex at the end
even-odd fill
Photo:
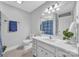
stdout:
POLYGON ((32 37, 33 56, 36 57, 78 57, 78 49, 60 39, 32 37))

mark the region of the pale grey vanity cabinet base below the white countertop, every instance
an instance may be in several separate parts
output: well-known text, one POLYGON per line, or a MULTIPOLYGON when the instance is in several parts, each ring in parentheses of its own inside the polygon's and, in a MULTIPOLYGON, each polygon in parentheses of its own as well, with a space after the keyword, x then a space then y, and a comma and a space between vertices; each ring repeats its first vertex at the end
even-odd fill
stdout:
POLYGON ((36 57, 78 57, 78 54, 67 51, 59 47, 60 45, 56 46, 55 44, 51 45, 50 42, 33 39, 33 55, 36 57))

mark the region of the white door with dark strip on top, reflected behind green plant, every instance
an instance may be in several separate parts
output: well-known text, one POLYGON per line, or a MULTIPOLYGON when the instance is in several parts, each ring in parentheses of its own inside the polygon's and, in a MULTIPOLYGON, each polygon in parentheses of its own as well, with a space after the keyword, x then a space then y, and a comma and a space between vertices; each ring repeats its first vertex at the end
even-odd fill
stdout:
POLYGON ((58 15, 58 35, 63 37, 63 31, 69 29, 70 24, 73 22, 72 12, 66 12, 58 15))

